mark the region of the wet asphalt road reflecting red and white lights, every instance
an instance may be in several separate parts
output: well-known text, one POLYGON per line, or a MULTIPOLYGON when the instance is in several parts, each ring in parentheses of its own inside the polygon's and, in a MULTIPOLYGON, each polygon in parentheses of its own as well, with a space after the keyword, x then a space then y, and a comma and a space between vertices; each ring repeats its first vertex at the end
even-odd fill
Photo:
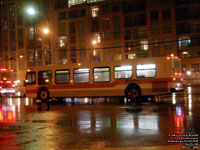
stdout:
MULTIPOLYGON (((199 90, 200 91, 200 90, 199 90)), ((161 96, 141 107, 97 99, 51 102, 38 111, 28 98, 0 99, 1 150, 71 150, 167 146, 169 134, 200 135, 200 92, 161 96)), ((199 138, 199 137, 198 137, 199 138)))

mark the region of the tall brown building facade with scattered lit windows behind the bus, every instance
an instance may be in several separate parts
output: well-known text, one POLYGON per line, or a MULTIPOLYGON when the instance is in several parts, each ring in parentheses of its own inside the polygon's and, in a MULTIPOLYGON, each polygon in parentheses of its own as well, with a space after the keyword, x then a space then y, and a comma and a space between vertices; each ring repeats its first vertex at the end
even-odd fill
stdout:
POLYGON ((31 66, 171 54, 182 59, 186 81, 200 83, 200 0, 0 0, 0 7, 0 66, 21 84, 31 66))

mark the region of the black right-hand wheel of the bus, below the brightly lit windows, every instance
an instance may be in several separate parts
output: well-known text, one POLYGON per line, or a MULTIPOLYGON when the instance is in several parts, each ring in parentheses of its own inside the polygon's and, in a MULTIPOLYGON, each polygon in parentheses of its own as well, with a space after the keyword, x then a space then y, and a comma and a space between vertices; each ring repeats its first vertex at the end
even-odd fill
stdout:
POLYGON ((125 96, 132 102, 141 103, 142 93, 137 85, 130 85, 125 91, 125 96))

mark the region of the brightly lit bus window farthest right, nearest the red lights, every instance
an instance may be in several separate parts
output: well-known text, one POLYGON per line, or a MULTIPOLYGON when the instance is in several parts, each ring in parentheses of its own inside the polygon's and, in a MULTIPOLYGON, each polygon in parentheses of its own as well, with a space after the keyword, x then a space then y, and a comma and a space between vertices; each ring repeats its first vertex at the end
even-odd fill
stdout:
POLYGON ((136 65, 136 77, 137 78, 154 78, 154 77, 156 77, 156 65, 155 64, 136 65))

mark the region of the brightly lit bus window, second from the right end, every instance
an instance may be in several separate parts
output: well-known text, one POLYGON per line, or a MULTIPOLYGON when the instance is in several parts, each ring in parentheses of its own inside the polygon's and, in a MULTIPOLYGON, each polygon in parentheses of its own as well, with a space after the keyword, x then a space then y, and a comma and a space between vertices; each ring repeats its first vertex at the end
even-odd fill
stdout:
POLYGON ((114 67, 115 79, 129 79, 133 76, 132 66, 116 66, 114 67))

